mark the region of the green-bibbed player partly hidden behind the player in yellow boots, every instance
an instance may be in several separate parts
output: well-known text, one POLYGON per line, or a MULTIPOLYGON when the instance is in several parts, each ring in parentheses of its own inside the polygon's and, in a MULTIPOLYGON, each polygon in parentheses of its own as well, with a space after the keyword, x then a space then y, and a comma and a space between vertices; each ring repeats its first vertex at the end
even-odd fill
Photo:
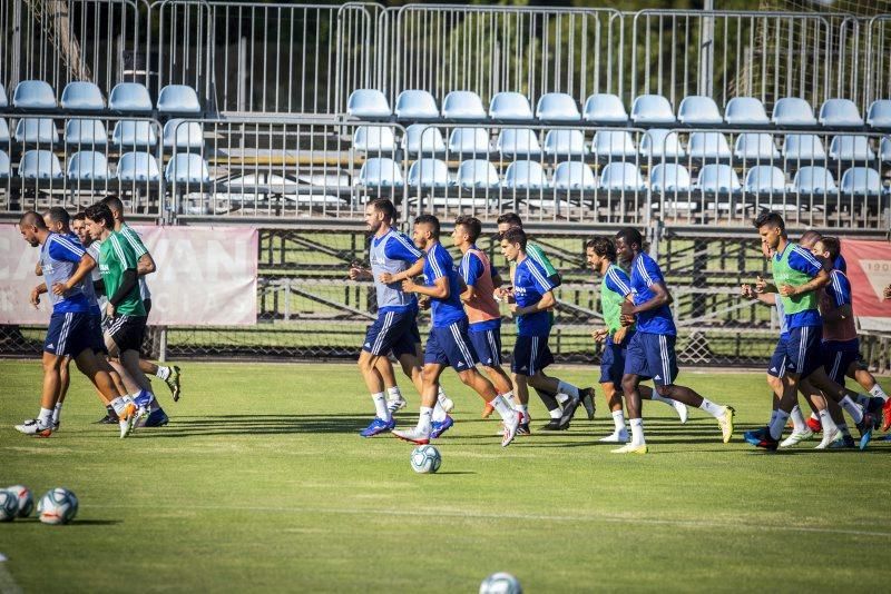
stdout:
MULTIPOLYGON (((600 387, 604 389, 607 405, 613 413, 616 429, 611 435, 600 439, 606 443, 628 442, 628 429, 625 427, 625 413, 621 406, 621 375, 625 370, 625 353, 628 343, 634 336, 634 325, 621 325, 621 304, 631 299, 631 281, 628 274, 616 264, 616 246, 608 237, 595 237, 585 244, 585 256, 588 266, 603 277, 600 283, 600 310, 604 315, 606 328, 598 329, 593 336, 598 341, 604 341, 604 354, 600 362, 600 387)), ((656 400, 673 407, 681 417, 681 423, 687 422, 687 407, 665 398, 649 386, 640 386, 640 398, 656 400)))

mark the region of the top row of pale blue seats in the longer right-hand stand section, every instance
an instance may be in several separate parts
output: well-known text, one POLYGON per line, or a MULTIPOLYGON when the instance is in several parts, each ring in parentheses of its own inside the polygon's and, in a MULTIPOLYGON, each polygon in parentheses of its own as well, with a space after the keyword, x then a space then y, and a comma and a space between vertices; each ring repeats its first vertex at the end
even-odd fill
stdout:
MULTIPOLYGON (((616 95, 596 93, 588 97, 581 111, 569 95, 544 95, 532 112, 529 100, 519 92, 499 92, 492 97, 487 112, 480 97, 472 91, 451 91, 437 107, 433 96, 425 90, 407 90, 399 93, 394 109, 376 89, 359 89, 350 95, 346 113, 359 119, 391 119, 404 121, 589 121, 601 125, 626 126, 770 126, 780 128, 814 127, 817 122, 828 128, 863 128, 861 111, 849 99, 829 99, 814 117, 811 105, 797 97, 776 101, 768 119, 764 105, 754 97, 735 97, 727 102, 724 115, 711 97, 685 97, 677 108, 660 95, 642 95, 631 103, 630 116, 616 95)), ((866 110, 866 125, 873 129, 891 129, 891 99, 873 101, 866 110)))

